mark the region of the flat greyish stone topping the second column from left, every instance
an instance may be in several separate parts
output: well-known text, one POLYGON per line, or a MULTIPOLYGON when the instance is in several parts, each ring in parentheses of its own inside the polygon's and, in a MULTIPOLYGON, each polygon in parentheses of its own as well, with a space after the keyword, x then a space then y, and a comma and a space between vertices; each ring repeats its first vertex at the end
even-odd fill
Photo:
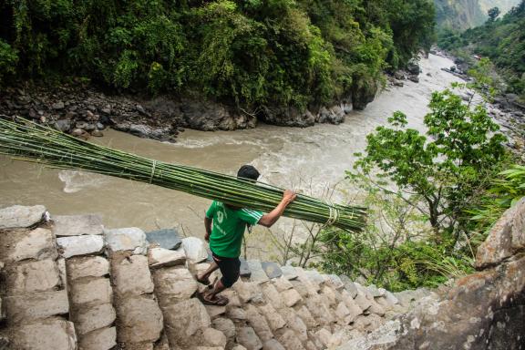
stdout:
POLYGON ((99 215, 59 215, 53 217, 53 232, 57 236, 102 234, 104 226, 99 215))

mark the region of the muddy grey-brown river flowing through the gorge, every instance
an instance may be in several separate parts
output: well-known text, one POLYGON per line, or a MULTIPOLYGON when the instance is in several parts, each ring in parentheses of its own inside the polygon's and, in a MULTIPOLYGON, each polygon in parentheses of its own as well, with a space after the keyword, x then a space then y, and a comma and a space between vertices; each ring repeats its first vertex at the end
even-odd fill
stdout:
MULTIPOLYGON (((453 66, 445 57, 422 58, 420 82, 405 80, 404 87, 389 87, 363 111, 352 111, 345 123, 317 124, 307 129, 259 124, 256 129, 205 132, 186 130, 177 143, 139 139, 115 130, 92 139, 141 156, 235 174, 252 164, 262 180, 320 195, 336 184, 345 188, 345 170, 353 154, 365 148, 366 134, 396 110, 407 114, 409 127, 422 129, 431 92, 459 81, 442 67, 453 66), (428 75, 427 75, 428 74, 428 75)), ((0 207, 44 204, 52 214, 98 213, 108 228, 136 226, 145 231, 178 228, 203 236, 202 218, 210 201, 174 190, 78 171, 49 170, 42 166, 0 158, 0 207)), ((291 221, 281 221, 288 230, 291 221)), ((279 230, 279 228, 277 229, 279 230)))

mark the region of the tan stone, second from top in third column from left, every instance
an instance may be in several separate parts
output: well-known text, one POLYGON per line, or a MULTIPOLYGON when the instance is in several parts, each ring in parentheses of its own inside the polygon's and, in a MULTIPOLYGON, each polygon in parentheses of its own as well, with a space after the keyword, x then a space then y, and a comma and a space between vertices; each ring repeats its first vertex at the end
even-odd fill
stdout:
POLYGON ((116 293, 120 295, 153 293, 154 285, 146 256, 131 255, 113 259, 111 270, 116 293))

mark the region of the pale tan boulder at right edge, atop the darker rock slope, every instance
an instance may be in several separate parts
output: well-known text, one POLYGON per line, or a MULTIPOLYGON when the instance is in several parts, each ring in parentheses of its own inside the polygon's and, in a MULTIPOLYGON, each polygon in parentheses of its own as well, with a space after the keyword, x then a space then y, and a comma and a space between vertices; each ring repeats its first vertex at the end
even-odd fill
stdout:
POLYGON ((502 262, 525 247, 525 198, 505 211, 478 248, 476 267, 502 262))

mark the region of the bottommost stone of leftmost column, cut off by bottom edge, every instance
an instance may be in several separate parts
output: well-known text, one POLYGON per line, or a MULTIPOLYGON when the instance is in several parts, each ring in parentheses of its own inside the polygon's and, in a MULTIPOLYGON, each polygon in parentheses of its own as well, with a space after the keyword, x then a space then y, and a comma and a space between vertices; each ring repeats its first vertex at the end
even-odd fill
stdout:
POLYGON ((9 330, 13 349, 76 350, 77 337, 71 322, 61 318, 47 318, 9 330))

